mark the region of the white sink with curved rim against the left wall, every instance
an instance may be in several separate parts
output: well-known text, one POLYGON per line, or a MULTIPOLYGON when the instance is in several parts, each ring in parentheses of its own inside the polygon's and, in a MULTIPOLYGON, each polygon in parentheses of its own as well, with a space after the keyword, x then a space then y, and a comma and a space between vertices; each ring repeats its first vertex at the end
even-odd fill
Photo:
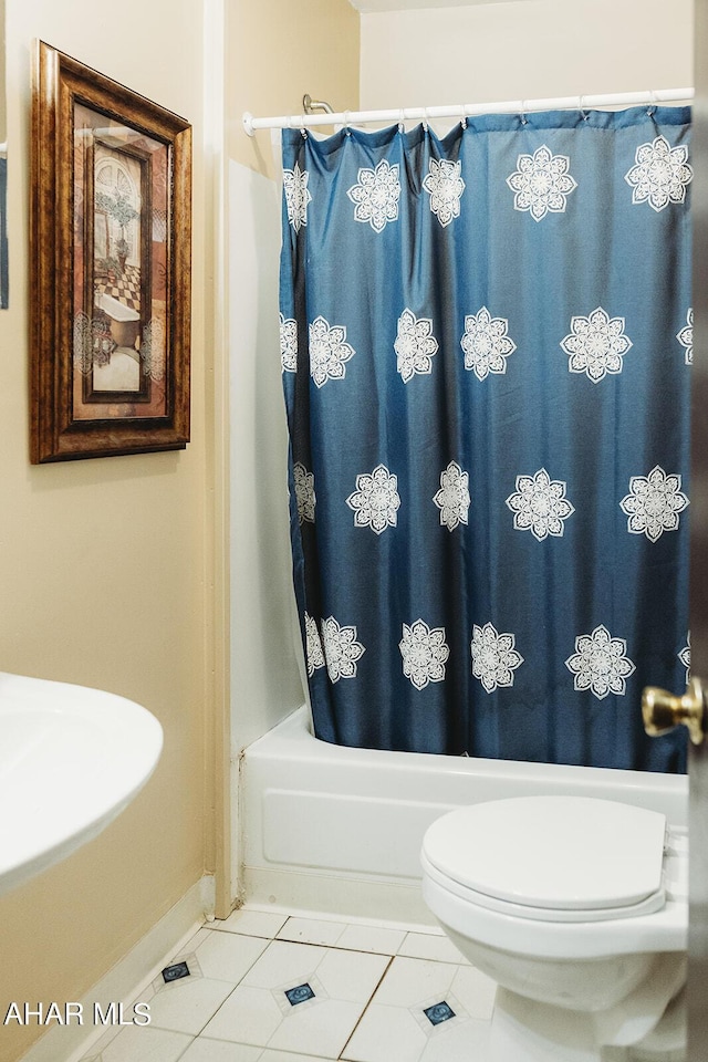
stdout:
POLYGON ((95 837, 162 747, 159 722, 132 700, 0 671, 0 893, 95 837))

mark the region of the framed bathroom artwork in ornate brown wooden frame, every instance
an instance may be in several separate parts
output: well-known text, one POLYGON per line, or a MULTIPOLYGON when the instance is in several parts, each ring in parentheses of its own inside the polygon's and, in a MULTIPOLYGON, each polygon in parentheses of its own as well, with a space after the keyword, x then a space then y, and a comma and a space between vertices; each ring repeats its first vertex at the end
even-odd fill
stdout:
POLYGON ((191 126, 39 42, 31 460, 189 441, 191 126))

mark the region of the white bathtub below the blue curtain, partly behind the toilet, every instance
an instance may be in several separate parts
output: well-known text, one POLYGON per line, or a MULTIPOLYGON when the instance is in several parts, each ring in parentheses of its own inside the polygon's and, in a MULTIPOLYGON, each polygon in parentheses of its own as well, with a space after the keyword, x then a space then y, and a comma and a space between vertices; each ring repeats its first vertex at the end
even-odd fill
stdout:
POLYGON ((342 748, 314 738, 300 708, 243 754, 242 898, 433 923, 419 888, 427 826, 461 804, 541 793, 603 796, 687 822, 685 775, 342 748))

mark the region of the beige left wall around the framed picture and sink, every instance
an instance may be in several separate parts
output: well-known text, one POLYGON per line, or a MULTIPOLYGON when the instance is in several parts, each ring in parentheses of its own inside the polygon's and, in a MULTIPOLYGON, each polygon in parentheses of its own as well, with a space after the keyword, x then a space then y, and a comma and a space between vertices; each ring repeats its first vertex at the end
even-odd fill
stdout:
MULTIPOLYGON (((0 667, 98 686, 165 730, 156 774, 96 841, 0 898, 0 1010, 77 1000, 205 870, 205 381, 201 0, 8 0, 11 309, 0 312, 0 667), (195 126, 192 442, 186 451, 31 467, 28 460, 30 56, 41 38, 195 126)), ((207 689, 207 693, 205 690, 207 689)), ((208 741, 209 739, 209 741, 208 741)), ((48 794, 51 800, 51 794, 48 794)), ((3 809, 2 814, 11 814, 3 809)), ((4 1014, 4 1011, 3 1011, 4 1014)), ((35 1027, 0 1027, 14 1062, 35 1027)))

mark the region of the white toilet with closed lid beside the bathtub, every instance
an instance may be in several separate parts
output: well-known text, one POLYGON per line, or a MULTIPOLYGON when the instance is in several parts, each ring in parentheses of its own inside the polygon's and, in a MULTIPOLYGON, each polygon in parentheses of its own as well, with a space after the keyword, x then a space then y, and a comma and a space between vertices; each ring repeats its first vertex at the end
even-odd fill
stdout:
POLYGON ((486 1062, 680 1058, 685 831, 615 801, 520 796, 442 815, 421 863, 428 907, 499 985, 486 1062))

